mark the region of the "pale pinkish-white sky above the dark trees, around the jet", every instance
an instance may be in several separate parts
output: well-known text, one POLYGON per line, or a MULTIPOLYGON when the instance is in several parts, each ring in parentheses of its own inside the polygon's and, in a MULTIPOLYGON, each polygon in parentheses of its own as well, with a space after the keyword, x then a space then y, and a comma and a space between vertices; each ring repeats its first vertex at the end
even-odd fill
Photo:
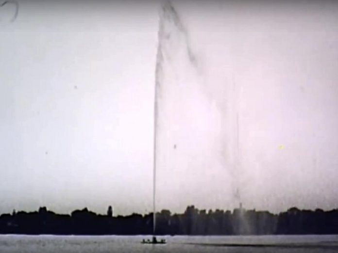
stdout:
POLYGON ((0 213, 152 210, 158 41, 158 209, 336 208, 338 4, 252 2, 19 1, 0 213))

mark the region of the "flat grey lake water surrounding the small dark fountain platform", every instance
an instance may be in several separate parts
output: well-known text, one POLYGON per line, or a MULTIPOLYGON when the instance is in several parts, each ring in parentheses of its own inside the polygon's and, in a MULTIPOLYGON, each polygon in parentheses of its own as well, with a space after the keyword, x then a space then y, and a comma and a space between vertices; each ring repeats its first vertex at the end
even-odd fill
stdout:
MULTIPOLYGON (((1 253, 337 253, 338 236, 165 237, 143 245, 143 236, 0 235, 1 253)), ((150 237, 149 237, 150 238, 150 237)), ((162 237, 161 237, 162 238, 162 237)))

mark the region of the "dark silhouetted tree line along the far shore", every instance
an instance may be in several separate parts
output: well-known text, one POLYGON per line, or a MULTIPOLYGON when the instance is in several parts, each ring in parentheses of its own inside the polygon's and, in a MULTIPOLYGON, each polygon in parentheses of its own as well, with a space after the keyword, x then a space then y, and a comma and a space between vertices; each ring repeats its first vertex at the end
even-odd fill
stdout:
MULTIPOLYGON (((46 207, 38 211, 13 211, 0 216, 0 234, 26 235, 151 235, 152 213, 113 217, 112 207, 107 215, 96 214, 87 208, 68 214, 56 214, 46 207)), ((199 210, 187 206, 183 214, 169 210, 156 213, 157 235, 304 235, 338 234, 338 209, 300 210, 271 214, 268 211, 199 210)))

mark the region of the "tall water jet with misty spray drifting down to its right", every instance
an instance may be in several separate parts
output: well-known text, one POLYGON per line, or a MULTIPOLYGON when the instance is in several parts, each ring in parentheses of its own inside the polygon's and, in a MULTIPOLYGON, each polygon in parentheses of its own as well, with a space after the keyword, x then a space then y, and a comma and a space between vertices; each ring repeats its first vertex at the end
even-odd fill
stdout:
POLYGON ((177 208, 187 203, 206 208, 237 206, 242 176, 239 88, 231 68, 223 73, 212 72, 208 52, 198 40, 191 39, 196 27, 185 22, 177 4, 174 7, 165 1, 160 11, 153 186, 155 189, 156 182, 160 187, 153 200, 165 208, 169 198, 180 199, 178 196, 184 194, 182 203, 176 202, 177 208), (170 196, 166 196, 168 189, 170 196), (203 198, 202 205, 196 191, 203 198))

